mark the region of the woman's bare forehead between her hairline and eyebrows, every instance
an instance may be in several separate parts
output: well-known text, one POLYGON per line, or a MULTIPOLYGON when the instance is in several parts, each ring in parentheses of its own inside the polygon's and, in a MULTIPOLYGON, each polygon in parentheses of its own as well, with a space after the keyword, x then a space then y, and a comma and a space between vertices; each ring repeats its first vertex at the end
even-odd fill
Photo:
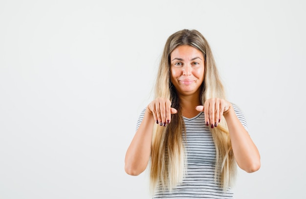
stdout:
POLYGON ((202 60, 204 59, 203 53, 191 45, 179 45, 170 54, 171 60, 183 59, 187 61, 192 60, 196 57, 202 60))

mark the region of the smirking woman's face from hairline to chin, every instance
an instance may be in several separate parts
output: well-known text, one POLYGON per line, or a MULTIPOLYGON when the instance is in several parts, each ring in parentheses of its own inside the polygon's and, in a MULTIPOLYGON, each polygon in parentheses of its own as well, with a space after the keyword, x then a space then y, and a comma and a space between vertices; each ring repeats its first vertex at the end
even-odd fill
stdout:
POLYGON ((170 54, 171 81, 181 95, 200 94, 205 62, 201 51, 190 45, 180 45, 170 54))

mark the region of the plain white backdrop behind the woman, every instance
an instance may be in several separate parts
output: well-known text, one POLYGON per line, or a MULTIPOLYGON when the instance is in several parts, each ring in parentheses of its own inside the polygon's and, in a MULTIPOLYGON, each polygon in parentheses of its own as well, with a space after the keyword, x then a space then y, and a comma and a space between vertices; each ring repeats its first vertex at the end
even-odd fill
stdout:
POLYGON ((303 0, 1 0, 0 199, 148 199, 124 171, 168 36, 208 40, 262 167, 236 199, 306 198, 303 0))

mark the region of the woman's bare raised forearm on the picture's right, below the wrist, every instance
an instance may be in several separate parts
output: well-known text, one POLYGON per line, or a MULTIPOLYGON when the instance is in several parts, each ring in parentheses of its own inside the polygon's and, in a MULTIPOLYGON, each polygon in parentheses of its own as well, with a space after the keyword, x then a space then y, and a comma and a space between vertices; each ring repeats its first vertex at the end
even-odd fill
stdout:
POLYGON ((238 166, 248 173, 257 171, 260 168, 260 154, 250 135, 243 128, 233 109, 226 112, 224 117, 238 166))

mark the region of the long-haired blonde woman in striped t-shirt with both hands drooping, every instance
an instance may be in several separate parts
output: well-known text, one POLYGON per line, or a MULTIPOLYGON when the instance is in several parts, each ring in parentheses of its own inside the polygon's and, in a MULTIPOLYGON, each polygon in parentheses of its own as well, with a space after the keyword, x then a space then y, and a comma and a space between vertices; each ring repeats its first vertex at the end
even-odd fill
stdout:
POLYGON ((237 165, 251 173, 260 154, 239 108, 225 99, 218 70, 197 30, 172 34, 155 99, 142 111, 125 157, 137 176, 150 166, 153 198, 232 198, 237 165), (154 125, 155 124, 155 125, 154 125))

